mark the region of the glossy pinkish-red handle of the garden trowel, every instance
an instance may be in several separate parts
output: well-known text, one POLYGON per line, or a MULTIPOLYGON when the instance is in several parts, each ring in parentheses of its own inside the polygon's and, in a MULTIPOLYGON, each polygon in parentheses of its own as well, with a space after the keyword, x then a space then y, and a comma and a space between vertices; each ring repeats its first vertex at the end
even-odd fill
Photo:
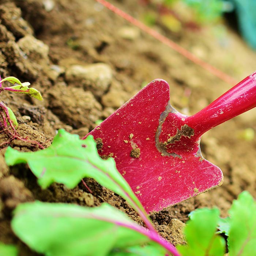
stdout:
POLYGON ((211 128, 256 106, 256 71, 193 116, 186 124, 201 136, 211 128))

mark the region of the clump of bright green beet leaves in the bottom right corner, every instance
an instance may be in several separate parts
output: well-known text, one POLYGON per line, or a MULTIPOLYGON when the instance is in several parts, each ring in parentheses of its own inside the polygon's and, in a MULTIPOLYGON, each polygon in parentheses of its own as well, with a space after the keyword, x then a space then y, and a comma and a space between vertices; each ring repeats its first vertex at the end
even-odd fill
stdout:
POLYGON ((233 201, 229 217, 219 217, 219 210, 197 209, 189 214, 184 233, 186 245, 178 245, 182 256, 254 256, 256 251, 256 202, 248 191, 233 201), (216 232, 216 230, 217 231, 216 232), (227 242, 218 234, 225 233, 227 242))

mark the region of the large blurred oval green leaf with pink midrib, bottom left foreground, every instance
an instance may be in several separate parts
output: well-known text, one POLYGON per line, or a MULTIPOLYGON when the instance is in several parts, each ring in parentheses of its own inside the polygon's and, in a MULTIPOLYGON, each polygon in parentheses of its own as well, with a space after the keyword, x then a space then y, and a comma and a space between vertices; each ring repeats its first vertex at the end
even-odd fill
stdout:
POLYGON ((38 201, 19 204, 11 226, 31 249, 46 256, 105 256, 150 242, 148 230, 106 203, 93 208, 38 201))

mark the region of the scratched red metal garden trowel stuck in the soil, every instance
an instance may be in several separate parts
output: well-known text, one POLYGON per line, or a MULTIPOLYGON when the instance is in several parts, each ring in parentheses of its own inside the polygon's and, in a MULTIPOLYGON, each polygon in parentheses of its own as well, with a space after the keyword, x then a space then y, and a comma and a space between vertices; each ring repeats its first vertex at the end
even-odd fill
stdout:
POLYGON ((89 133, 102 142, 99 154, 115 159, 147 212, 222 184, 219 167, 202 157, 200 138, 256 106, 256 72, 193 116, 169 100, 167 82, 154 80, 89 133))

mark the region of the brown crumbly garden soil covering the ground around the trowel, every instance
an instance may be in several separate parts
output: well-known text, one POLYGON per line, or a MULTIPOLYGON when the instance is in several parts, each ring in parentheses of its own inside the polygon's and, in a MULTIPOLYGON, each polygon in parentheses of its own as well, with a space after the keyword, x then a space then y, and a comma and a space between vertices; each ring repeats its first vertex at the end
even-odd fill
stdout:
MULTIPOLYGON (((136 0, 111 3, 143 19, 157 16, 153 28, 237 81, 256 67, 256 53, 246 46, 225 20, 191 29, 169 30, 154 5, 136 0)), ((181 12, 177 7, 176 12, 181 12)), ((181 17, 187 17, 180 13, 181 17)), ((108 202, 143 224, 136 212, 114 192, 92 179, 75 189, 52 184, 42 190, 26 165, 8 167, 7 145, 21 151, 48 147, 56 130, 64 128, 82 138, 151 80, 170 85, 171 104, 183 114, 194 114, 231 86, 140 31, 94 0, 0 0, 0 75, 16 76, 41 91, 43 101, 1 93, 1 101, 18 117, 17 133, 26 142, 0 132, 0 241, 17 244, 21 256, 37 255, 12 233, 11 212, 21 202, 67 202, 98 206, 108 202)), ((193 27, 193 26, 192 26, 193 27)), ((217 206, 223 217, 233 199, 248 190, 256 197, 256 110, 242 114, 207 132, 201 142, 204 158, 221 167, 223 185, 177 204, 151 218, 161 236, 174 245, 184 243, 182 227, 189 212, 217 206)), ((98 140, 98 147, 101 143, 98 140)), ((138 157, 139 153, 136 152, 138 157)), ((107 157, 107 156, 106 156, 107 157)))

